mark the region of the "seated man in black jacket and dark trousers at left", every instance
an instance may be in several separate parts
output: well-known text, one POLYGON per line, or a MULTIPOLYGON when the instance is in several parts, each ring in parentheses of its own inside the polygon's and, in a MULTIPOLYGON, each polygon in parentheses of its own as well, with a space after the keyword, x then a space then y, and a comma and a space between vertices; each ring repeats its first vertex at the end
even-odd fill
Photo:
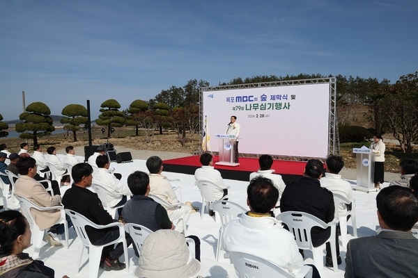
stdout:
MULTIPOLYGON (((102 202, 96 193, 88 190, 91 186, 93 167, 88 163, 79 163, 72 167, 71 174, 74 183, 71 188, 65 192, 63 197, 63 205, 65 208, 71 209, 84 215, 88 220, 95 224, 106 225, 114 222, 109 213, 104 210, 102 202)), ((109 243, 119 237, 118 227, 109 227, 106 229, 94 229, 86 227, 87 236, 93 245, 102 245, 109 243)), ((132 238, 125 233, 126 243, 129 246, 132 238)), ((102 259, 100 266, 104 270, 123 270, 126 268, 125 263, 119 261, 119 257, 123 255, 123 244, 118 243, 114 248, 113 245, 104 247, 102 250, 102 259)))

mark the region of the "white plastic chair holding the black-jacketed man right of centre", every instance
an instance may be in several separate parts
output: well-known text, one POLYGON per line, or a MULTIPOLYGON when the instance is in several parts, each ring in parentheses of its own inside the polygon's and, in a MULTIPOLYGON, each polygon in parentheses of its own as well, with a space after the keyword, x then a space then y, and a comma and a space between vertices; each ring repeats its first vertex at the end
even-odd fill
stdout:
POLYGON ((335 220, 327 224, 316 218, 314 215, 303 213, 301 211, 286 211, 277 215, 276 218, 277 220, 284 222, 284 224, 287 225, 289 231, 291 231, 293 236, 295 236, 297 247, 302 250, 312 251, 314 256, 314 265, 318 269, 321 277, 323 276, 323 250, 325 249, 326 242, 330 242, 334 272, 338 269, 336 263, 335 220), (327 238, 323 245, 314 247, 311 240, 312 227, 320 227, 322 229, 331 227, 330 238, 327 238))

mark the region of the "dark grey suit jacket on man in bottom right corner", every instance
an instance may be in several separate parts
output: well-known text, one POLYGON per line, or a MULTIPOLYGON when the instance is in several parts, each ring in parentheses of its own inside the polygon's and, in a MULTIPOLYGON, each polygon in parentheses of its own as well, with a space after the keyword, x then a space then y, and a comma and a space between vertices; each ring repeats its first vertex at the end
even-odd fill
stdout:
POLYGON ((348 242, 344 277, 417 277, 418 239, 408 231, 381 231, 348 242))

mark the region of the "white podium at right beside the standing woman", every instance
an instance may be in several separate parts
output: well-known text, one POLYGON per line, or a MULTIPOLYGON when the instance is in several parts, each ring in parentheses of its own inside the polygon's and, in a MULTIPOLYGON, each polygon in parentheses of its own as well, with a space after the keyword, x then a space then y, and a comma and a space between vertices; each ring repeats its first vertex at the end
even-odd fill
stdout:
POLYGON ((353 154, 356 154, 357 165, 357 186, 353 190, 359 190, 366 193, 378 191, 374 187, 374 156, 371 149, 354 148, 353 154))

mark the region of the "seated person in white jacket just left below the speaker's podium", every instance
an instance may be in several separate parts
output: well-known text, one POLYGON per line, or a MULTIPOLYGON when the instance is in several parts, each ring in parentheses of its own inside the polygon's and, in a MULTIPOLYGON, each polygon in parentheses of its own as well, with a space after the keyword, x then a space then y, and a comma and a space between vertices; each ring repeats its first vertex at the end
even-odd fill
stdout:
MULTIPOLYGON (((194 179, 196 181, 212 181, 219 188, 216 188, 213 195, 216 199, 222 199, 228 195, 228 188, 224 185, 221 173, 213 167, 213 156, 209 153, 204 153, 200 156, 202 167, 196 169, 194 172, 194 179), (222 189, 221 189, 222 188, 222 189)), ((213 211, 209 211, 209 215, 213 215, 213 211)))

